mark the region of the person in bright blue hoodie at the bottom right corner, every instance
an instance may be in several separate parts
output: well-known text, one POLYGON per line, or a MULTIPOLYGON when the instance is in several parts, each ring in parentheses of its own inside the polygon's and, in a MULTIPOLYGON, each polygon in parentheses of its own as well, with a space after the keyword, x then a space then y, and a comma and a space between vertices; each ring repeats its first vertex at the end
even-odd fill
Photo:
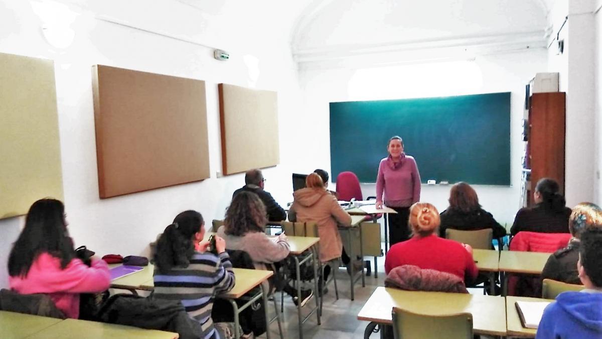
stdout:
POLYGON ((560 293, 545 308, 537 339, 602 338, 602 229, 582 233, 577 271, 585 290, 560 293))

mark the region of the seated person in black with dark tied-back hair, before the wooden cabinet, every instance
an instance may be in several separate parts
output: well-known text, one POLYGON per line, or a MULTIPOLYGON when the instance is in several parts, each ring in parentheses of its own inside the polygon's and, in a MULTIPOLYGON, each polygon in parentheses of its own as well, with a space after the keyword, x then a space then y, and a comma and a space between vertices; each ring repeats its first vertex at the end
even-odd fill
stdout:
POLYGON ((568 233, 571 209, 565 206, 565 198, 559 192, 558 183, 544 178, 537 182, 533 193, 535 207, 521 208, 510 229, 512 236, 521 230, 541 233, 568 233))

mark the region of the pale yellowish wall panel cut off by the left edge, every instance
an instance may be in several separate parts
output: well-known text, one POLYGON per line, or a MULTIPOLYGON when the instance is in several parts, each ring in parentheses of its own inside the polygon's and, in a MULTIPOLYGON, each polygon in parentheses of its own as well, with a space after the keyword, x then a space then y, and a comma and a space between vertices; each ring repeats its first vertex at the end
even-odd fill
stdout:
POLYGON ((0 53, 0 219, 63 200, 54 63, 0 53))

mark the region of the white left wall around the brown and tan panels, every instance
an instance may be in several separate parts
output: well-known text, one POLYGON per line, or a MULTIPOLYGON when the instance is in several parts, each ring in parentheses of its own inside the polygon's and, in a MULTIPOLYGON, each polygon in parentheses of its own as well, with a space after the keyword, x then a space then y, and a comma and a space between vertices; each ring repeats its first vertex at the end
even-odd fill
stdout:
MULTIPOLYGON (((221 1, 213 12, 202 12, 184 1, 172 0, 94 2, 96 8, 80 7, 76 5, 79 1, 65 1, 69 7, 44 3, 51 7, 36 14, 34 8, 42 2, 0 0, 0 52, 55 60, 64 202, 76 244, 85 244, 99 255, 147 255, 149 242, 178 212, 196 209, 209 224, 213 218, 223 217, 232 192, 244 185, 244 179, 241 174, 216 177, 221 171, 217 83, 252 85, 243 55, 259 60, 256 87, 279 92, 281 163, 290 164, 294 159, 294 154, 284 151, 294 142, 285 131, 300 106, 290 37, 286 28, 273 30, 276 19, 257 21, 258 14, 251 12, 255 5, 221 1), (92 11, 226 49, 232 59, 218 62, 209 48, 98 20, 92 11), (67 19, 53 21, 61 13, 67 14, 67 19), (67 39, 68 47, 56 48, 46 41, 40 16, 60 38, 73 30, 75 36, 70 44, 67 39), (211 179, 99 200, 91 77, 95 64, 205 80, 211 179)), ((278 12, 287 4, 272 1, 262 5, 278 12)), ((287 165, 265 170, 266 188, 280 201, 291 200, 290 173, 287 165)), ((22 217, 0 220, 0 287, 7 286, 5 264, 22 223, 22 217)))

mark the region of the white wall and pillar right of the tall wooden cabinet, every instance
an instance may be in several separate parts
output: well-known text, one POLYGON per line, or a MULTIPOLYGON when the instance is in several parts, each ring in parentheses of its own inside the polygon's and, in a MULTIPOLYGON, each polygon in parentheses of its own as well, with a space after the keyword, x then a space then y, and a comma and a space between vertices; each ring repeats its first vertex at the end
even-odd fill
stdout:
MULTIPOLYGON (((597 176, 597 148, 600 133, 596 133, 595 113, 595 30, 594 1, 556 1, 549 21, 551 39, 556 37, 562 22, 568 21, 559 34, 565 42, 563 54, 557 52, 557 42, 548 50, 548 70, 560 73, 560 90, 566 92, 566 204, 582 201, 600 202, 594 191, 600 186, 597 176)), ((550 39, 550 40, 551 40, 550 39)), ((599 130, 598 130, 599 131, 599 130)))

